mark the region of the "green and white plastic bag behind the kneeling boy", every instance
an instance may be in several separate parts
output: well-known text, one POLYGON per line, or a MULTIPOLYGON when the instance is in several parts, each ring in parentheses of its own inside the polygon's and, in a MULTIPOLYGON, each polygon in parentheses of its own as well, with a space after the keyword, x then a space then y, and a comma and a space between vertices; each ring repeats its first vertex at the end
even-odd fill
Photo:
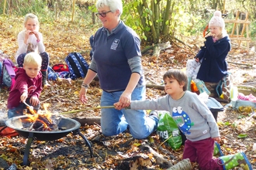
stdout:
POLYGON ((178 149, 182 145, 182 134, 178 130, 177 124, 168 111, 158 111, 159 122, 157 125, 157 134, 160 135, 162 141, 171 146, 172 149, 178 149))

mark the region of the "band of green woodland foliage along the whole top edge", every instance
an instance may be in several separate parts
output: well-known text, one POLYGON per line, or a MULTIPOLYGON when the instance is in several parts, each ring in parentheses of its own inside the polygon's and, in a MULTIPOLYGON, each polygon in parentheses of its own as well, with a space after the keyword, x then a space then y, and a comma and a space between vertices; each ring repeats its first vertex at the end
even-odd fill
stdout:
MULTIPOLYGON (((217 3, 219 1, 215 1, 217 3)), ((250 12, 250 21, 256 18, 256 2, 254 0, 240 1, 226 0, 226 19, 234 19, 237 9, 250 12), (236 2, 236 3, 234 3, 236 2), (241 8, 242 6, 242 8, 241 8)), ((223 8, 220 2, 218 9, 223 8)), ((0 13, 3 12, 4 1, 0 1, 0 13)), ((73 1, 70 0, 20 0, 7 1, 5 14, 24 16, 33 12, 39 16, 40 22, 53 22, 56 20, 71 21, 73 1), (12 3, 11 3, 12 2, 12 3)), ((164 42, 175 36, 181 39, 184 36, 202 35, 209 19, 212 17, 216 4, 203 0, 133 0, 123 3, 123 15, 121 19, 134 29, 142 40, 147 43, 164 42), (165 30, 166 29, 166 30, 165 30)), ((92 13, 97 12, 95 1, 76 1, 74 22, 84 22, 92 29, 98 29, 99 25, 92 25, 92 13), (83 4, 81 4, 83 3, 83 4)), ((93 22, 95 23, 95 22, 93 22)), ((233 25, 226 25, 227 32, 232 32, 233 25)), ((256 23, 250 24, 250 37, 256 35, 256 23)))

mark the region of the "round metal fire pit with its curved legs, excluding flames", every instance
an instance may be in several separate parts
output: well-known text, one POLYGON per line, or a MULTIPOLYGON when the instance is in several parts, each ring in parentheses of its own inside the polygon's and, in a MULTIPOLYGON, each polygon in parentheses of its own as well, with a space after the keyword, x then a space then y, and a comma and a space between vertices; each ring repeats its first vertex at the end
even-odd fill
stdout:
POLYGON ((9 128, 13 128, 16 130, 18 134, 22 137, 29 138, 26 143, 26 150, 24 152, 23 163, 22 165, 28 164, 29 158, 29 148, 33 140, 36 141, 54 141, 59 138, 65 137, 67 134, 72 133, 74 135, 79 134, 81 138, 83 138, 90 149, 91 157, 92 154, 92 146, 90 145, 89 141, 81 132, 79 128, 81 124, 74 119, 61 117, 61 121, 57 124, 57 131, 29 131, 26 127, 28 124, 26 123, 26 119, 28 118, 27 115, 19 116, 19 117, 12 117, 9 120, 5 121, 6 126, 9 128))

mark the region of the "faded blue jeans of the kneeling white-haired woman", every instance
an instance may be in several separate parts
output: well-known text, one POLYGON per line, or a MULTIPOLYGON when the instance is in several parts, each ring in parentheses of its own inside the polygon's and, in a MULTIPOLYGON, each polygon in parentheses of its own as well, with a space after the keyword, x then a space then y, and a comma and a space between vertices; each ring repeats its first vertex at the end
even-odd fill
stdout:
MULTIPOLYGON (((101 106, 112 106, 119 101, 119 97, 123 91, 102 92, 101 106)), ((146 87, 136 87, 133 90, 132 100, 145 100, 146 87)), ((154 116, 147 116, 145 110, 123 109, 116 110, 115 108, 102 109, 102 134, 112 136, 129 128, 133 138, 147 138, 153 131, 157 129, 158 119, 154 116)))

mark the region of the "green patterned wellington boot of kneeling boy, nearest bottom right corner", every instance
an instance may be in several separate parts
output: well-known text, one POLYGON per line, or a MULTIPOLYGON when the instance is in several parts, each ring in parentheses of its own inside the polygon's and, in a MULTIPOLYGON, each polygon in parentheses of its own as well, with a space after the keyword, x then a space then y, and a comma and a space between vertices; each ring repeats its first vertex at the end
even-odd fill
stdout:
POLYGON ((242 151, 238 152, 235 155, 220 157, 218 164, 223 165, 223 169, 232 169, 234 167, 240 166, 240 168, 252 170, 251 163, 242 151))

